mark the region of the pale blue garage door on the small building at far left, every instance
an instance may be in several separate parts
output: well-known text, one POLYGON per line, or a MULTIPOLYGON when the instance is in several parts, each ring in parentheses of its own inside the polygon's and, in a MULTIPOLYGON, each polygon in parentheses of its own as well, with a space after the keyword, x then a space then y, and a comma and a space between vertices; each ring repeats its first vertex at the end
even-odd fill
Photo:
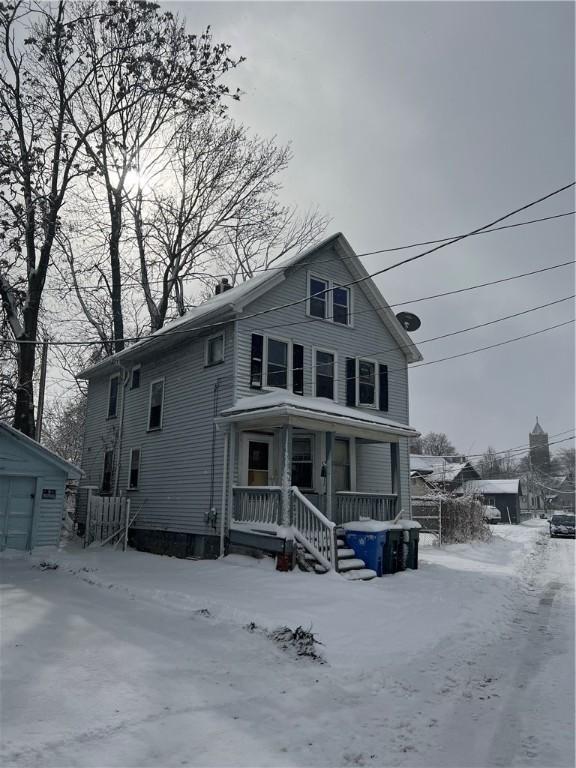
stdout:
POLYGON ((0 550, 30 546, 35 490, 34 477, 0 477, 0 550))

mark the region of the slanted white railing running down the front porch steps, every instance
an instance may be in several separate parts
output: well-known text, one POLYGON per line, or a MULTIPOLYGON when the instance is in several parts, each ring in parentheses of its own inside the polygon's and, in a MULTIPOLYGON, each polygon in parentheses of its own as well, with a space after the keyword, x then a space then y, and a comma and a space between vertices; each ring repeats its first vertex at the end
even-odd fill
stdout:
POLYGON ((292 496, 294 538, 327 570, 338 570, 336 524, 328 520, 296 486, 292 496))

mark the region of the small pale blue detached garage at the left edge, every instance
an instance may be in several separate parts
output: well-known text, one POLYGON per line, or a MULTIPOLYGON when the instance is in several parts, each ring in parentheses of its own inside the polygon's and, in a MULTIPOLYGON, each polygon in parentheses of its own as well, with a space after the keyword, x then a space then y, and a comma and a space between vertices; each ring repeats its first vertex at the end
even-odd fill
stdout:
POLYGON ((66 481, 82 471, 0 422, 0 551, 56 546, 66 481))

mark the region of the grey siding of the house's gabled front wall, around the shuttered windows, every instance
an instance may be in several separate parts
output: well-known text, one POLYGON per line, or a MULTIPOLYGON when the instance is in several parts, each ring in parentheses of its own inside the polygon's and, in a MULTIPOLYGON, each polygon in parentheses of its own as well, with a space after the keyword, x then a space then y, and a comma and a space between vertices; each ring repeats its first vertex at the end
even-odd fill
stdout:
MULTIPOLYGON (((286 279, 246 308, 247 313, 259 312, 288 304, 308 295, 308 271, 336 283, 351 282, 354 277, 345 261, 327 247, 301 262, 286 279), (332 259, 326 262, 326 259, 332 259)), ((366 357, 388 366, 389 410, 391 420, 408 424, 408 371, 406 357, 396 340, 373 311, 362 285, 352 287, 353 325, 338 325, 330 321, 311 321, 306 304, 277 310, 267 315, 240 319, 237 323, 238 367, 236 398, 261 394, 250 388, 250 353, 253 332, 290 339, 304 346, 304 395, 313 395, 313 348, 320 347, 337 354, 337 400, 346 404, 346 358, 366 357)), ((373 409, 366 409, 374 412, 373 409)), ((381 413, 377 411, 377 413, 381 413)), ((400 444, 400 473, 402 504, 410 506, 410 470, 408 441, 400 444)), ((357 490, 390 492, 390 451, 386 444, 357 446, 357 490)))

